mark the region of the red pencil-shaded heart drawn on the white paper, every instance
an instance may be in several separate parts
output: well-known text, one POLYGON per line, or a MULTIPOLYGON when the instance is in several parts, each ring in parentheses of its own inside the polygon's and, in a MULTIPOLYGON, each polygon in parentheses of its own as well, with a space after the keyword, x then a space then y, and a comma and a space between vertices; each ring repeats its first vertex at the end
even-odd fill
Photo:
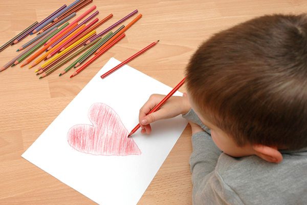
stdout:
POLYGON ((89 118, 93 126, 75 125, 68 131, 68 143, 74 149, 95 155, 141 154, 112 108, 95 103, 89 110, 89 118))

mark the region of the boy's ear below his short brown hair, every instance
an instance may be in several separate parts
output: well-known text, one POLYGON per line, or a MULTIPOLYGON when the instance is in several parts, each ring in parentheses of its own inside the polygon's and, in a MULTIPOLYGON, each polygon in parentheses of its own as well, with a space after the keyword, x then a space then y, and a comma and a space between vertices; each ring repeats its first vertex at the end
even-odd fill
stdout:
POLYGON ((268 147, 265 145, 253 145, 256 155, 266 161, 279 163, 282 161, 282 155, 277 147, 268 147))

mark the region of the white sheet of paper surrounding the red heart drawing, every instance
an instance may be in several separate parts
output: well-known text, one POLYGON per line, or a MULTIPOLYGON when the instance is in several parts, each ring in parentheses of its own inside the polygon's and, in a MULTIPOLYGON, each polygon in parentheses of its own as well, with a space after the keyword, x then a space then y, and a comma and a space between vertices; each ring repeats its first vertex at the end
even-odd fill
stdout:
POLYGON ((152 93, 167 94, 172 89, 127 65, 100 78, 119 63, 115 58, 108 60, 22 155, 99 204, 136 204, 187 125, 178 116, 152 124, 149 136, 142 135, 139 129, 133 138, 141 155, 102 156, 72 148, 68 130, 77 124, 92 125, 87 114, 94 103, 112 107, 130 132, 138 124, 139 109, 148 97, 152 93))

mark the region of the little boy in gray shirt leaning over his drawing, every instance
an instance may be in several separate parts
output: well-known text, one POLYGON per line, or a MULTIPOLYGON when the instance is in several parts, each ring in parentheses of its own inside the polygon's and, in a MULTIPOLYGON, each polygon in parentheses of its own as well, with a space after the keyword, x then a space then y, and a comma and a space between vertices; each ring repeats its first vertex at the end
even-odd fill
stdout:
POLYGON ((187 96, 152 95, 150 123, 192 128, 193 204, 307 204, 307 16, 262 16, 215 34, 192 56, 187 96), (191 109, 192 108, 192 109, 191 109))

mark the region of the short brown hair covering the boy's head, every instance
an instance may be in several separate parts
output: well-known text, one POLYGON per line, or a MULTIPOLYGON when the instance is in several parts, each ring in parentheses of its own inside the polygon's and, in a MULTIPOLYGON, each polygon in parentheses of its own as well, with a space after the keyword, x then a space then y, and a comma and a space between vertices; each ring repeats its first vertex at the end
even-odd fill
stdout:
POLYGON ((186 80, 194 110, 238 147, 307 147, 306 15, 262 16, 215 34, 186 80))

